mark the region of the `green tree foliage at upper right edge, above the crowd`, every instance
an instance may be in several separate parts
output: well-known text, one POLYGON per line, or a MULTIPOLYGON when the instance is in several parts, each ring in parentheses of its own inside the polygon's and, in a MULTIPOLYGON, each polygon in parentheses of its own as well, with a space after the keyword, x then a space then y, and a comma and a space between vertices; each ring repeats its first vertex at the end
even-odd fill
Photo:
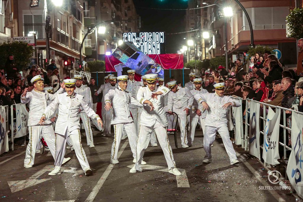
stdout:
POLYGON ((303 8, 290 10, 286 16, 289 35, 287 37, 300 39, 303 38, 303 8))

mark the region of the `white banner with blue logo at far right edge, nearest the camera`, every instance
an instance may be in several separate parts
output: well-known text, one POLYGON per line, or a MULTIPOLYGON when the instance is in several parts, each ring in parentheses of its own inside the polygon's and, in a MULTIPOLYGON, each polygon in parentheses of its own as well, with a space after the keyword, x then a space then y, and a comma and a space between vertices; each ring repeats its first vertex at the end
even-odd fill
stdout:
POLYGON ((287 164, 287 177, 297 194, 303 197, 303 115, 292 112, 291 115, 291 154, 287 164))

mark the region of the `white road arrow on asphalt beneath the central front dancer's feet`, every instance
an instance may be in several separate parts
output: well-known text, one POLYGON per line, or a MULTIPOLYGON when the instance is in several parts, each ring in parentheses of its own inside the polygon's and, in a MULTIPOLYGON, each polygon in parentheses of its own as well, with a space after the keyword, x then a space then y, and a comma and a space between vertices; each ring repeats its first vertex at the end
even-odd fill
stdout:
MULTIPOLYGON (((135 164, 129 165, 127 167, 132 168, 134 167, 135 164)), ((163 167, 163 166, 154 166, 154 165, 141 165, 141 167, 143 169, 146 170, 153 170, 153 171, 161 171, 161 172, 168 172, 168 168, 167 167, 163 167)), ((187 179, 187 175, 185 172, 185 169, 182 168, 178 168, 178 170, 181 172, 180 176, 176 176, 177 178, 177 186, 178 187, 189 187, 189 183, 188 183, 188 179, 187 179)))

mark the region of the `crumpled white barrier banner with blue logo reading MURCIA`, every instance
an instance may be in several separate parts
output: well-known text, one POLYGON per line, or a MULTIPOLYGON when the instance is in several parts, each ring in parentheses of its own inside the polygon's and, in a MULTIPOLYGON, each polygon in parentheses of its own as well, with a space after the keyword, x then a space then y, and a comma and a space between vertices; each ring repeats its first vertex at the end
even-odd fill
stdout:
POLYGON ((264 162, 277 165, 279 156, 279 127, 280 127, 281 110, 276 109, 274 112, 268 108, 268 114, 264 130, 264 144, 263 144, 263 159, 264 162))

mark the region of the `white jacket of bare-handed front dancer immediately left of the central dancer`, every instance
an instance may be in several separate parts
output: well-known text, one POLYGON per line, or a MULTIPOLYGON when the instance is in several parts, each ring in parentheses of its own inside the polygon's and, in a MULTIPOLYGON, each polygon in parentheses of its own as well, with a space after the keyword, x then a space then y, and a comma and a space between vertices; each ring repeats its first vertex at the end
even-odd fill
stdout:
POLYGON ((105 103, 110 103, 113 106, 112 125, 133 122, 129 112, 129 104, 143 107, 129 92, 122 91, 120 87, 109 90, 104 99, 105 103))

